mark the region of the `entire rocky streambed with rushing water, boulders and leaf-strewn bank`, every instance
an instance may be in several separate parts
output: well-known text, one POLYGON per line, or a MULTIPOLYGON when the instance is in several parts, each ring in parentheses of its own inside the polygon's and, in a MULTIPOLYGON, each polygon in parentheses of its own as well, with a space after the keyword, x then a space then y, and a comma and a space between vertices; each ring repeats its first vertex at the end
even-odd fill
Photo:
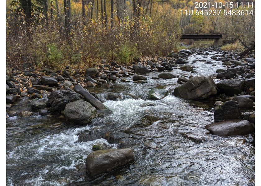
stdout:
POLYGON ((194 49, 7 77, 7 185, 254 185, 254 55, 194 49))

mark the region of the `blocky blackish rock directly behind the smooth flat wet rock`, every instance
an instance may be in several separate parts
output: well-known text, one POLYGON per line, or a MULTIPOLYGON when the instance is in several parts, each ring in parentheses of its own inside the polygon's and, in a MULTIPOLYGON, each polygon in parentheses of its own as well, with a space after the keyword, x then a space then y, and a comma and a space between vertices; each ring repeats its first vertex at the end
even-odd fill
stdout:
POLYGON ((227 119, 241 119, 241 110, 236 101, 225 101, 214 108, 214 120, 222 121, 227 119))

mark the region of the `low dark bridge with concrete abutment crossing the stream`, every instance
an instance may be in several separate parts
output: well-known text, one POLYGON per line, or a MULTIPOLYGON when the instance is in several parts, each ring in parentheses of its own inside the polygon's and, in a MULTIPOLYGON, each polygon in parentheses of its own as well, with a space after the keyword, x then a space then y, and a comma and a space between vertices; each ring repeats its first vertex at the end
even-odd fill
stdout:
POLYGON ((181 39, 214 39, 213 47, 221 47, 224 40, 232 40, 233 36, 222 33, 183 33, 181 39))

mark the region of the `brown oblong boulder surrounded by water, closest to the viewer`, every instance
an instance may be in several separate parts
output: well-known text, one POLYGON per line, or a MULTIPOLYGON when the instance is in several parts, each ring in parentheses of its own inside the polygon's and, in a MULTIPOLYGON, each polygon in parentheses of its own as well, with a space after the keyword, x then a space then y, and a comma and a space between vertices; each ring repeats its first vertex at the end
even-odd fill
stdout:
POLYGON ((86 158, 86 174, 93 179, 133 162, 135 162, 135 157, 130 148, 94 151, 86 158))

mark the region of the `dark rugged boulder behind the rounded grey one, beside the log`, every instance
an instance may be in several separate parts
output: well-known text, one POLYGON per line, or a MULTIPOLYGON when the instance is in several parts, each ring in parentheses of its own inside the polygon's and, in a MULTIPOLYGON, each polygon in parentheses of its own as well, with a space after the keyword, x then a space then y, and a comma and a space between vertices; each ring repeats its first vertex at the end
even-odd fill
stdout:
POLYGON ((51 112, 56 112, 56 111, 64 110, 66 104, 79 100, 84 100, 84 99, 80 94, 77 94, 74 91, 57 90, 57 91, 53 91, 48 96, 47 104, 51 105, 51 107, 49 108, 51 112))

